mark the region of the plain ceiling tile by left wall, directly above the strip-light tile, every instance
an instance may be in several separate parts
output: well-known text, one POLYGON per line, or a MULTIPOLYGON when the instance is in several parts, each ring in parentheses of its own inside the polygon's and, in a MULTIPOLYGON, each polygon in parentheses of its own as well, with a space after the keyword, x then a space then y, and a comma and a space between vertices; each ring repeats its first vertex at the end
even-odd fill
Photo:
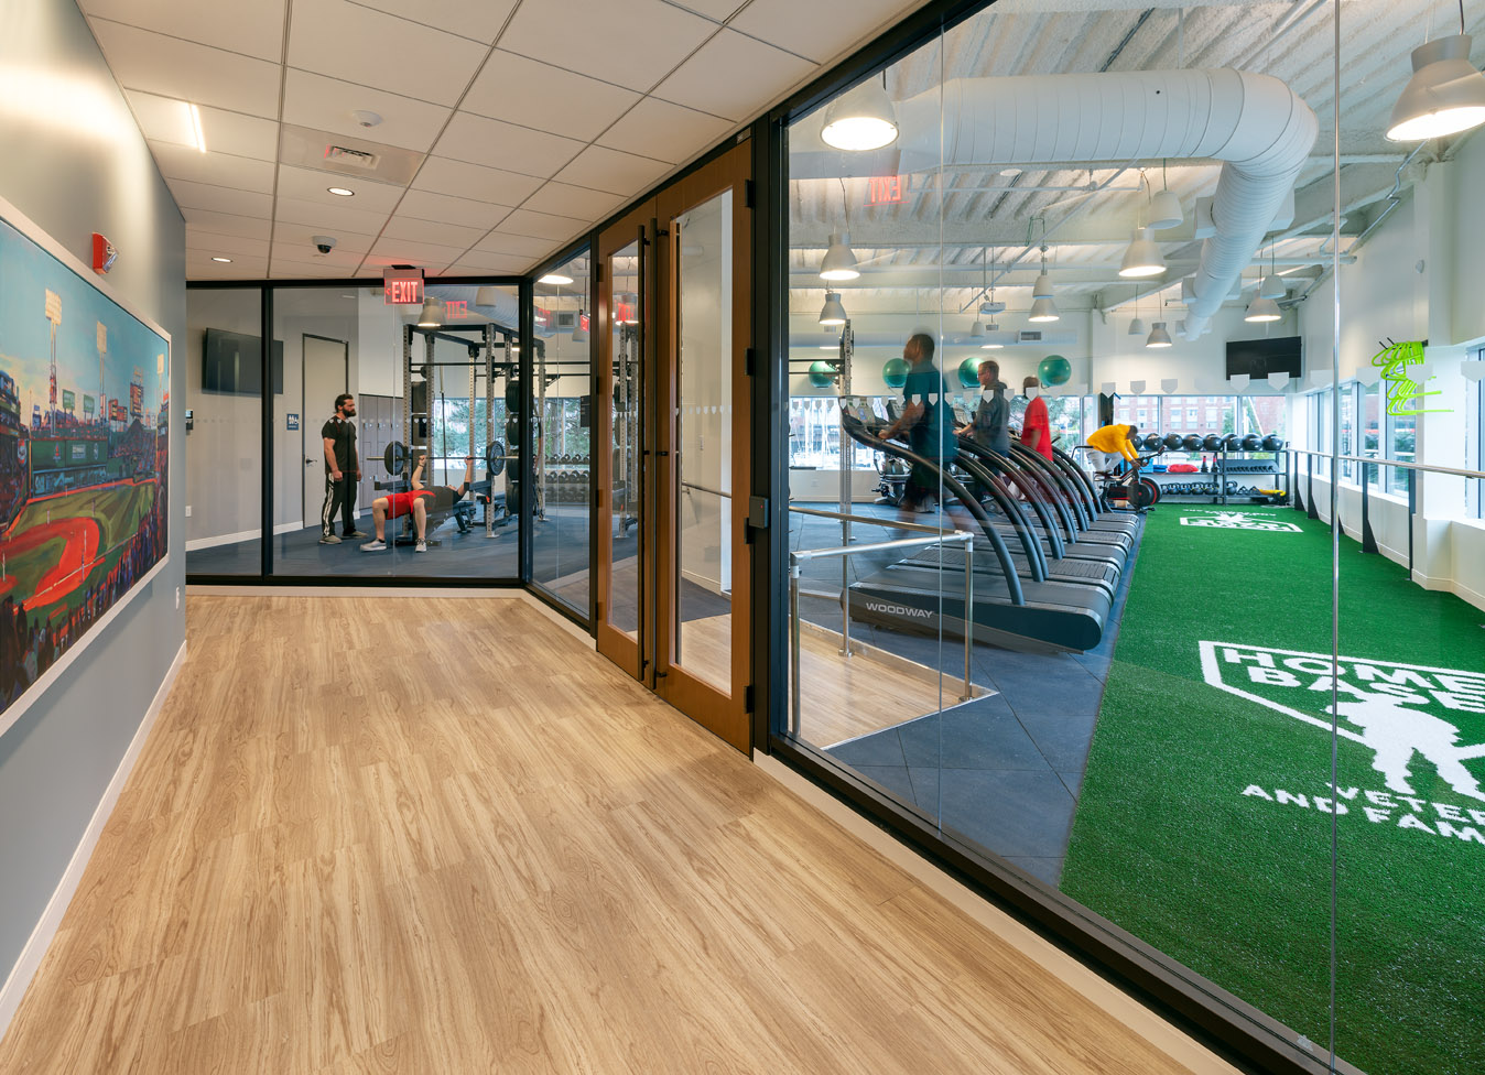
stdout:
POLYGON ((278 116, 278 64, 107 19, 94 19, 92 30, 120 86, 251 116, 278 116))

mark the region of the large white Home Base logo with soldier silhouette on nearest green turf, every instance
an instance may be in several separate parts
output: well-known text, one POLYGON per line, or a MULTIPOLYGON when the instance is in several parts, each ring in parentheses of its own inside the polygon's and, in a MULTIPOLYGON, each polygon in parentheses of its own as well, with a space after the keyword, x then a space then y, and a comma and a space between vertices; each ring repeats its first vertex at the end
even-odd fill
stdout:
MULTIPOLYGON (((1460 668, 1342 656, 1335 667, 1329 653, 1201 641, 1201 676, 1213 687, 1265 705, 1287 717, 1329 732, 1331 690, 1336 692, 1336 733, 1371 751, 1371 768, 1383 788, 1341 787, 1335 800, 1299 788, 1270 788, 1252 782, 1244 796, 1347 814, 1345 802, 1359 800, 1362 815, 1375 824, 1393 824, 1436 836, 1481 843, 1485 811, 1464 812, 1449 803, 1418 799, 1414 785, 1421 763, 1432 765, 1460 799, 1485 803, 1476 772, 1485 772, 1485 673, 1460 668), (1464 817, 1469 814, 1469 817, 1464 817)), ((1329 787, 1323 791, 1329 794, 1329 787)))

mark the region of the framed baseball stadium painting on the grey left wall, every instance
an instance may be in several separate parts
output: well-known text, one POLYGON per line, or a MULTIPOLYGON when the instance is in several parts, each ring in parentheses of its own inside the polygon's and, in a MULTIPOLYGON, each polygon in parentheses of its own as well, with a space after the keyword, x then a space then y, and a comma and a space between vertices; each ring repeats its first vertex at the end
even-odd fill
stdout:
POLYGON ((3 215, 0 731, 165 560, 169 428, 168 337, 3 215))

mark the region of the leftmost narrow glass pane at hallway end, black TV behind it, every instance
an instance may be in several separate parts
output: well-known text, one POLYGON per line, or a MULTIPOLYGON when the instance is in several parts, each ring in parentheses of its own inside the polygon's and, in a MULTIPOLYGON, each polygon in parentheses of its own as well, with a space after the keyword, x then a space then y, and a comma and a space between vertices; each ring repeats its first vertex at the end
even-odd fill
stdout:
MULTIPOLYGON (((263 321, 255 288, 193 290, 186 346, 186 570, 263 570, 263 321)), ((273 350, 272 389, 284 362, 273 350)))

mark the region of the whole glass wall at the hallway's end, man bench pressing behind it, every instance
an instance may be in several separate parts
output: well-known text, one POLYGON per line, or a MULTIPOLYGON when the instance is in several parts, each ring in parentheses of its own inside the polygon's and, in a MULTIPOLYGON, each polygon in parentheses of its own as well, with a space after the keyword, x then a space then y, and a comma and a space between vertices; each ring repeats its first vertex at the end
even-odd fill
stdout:
MULTIPOLYGON (((189 316, 205 346, 257 346, 260 295, 192 288, 189 316)), ((429 284, 420 304, 389 304, 380 282, 273 288, 272 297, 270 573, 517 578, 520 468, 508 407, 520 392, 517 288, 429 284)), ((192 451, 187 463, 196 475, 198 459, 212 460, 199 497, 211 523, 193 539, 202 545, 190 549, 189 570, 258 576, 263 407, 241 391, 258 386, 239 379, 229 393, 221 359, 215 373, 211 355, 193 361, 193 377, 198 367, 215 379, 199 395, 192 382, 205 408, 198 428, 212 434, 189 444, 211 454, 192 451), (227 426, 236 460, 220 457, 227 426), (220 481, 224 465, 236 468, 232 483, 220 481)))

